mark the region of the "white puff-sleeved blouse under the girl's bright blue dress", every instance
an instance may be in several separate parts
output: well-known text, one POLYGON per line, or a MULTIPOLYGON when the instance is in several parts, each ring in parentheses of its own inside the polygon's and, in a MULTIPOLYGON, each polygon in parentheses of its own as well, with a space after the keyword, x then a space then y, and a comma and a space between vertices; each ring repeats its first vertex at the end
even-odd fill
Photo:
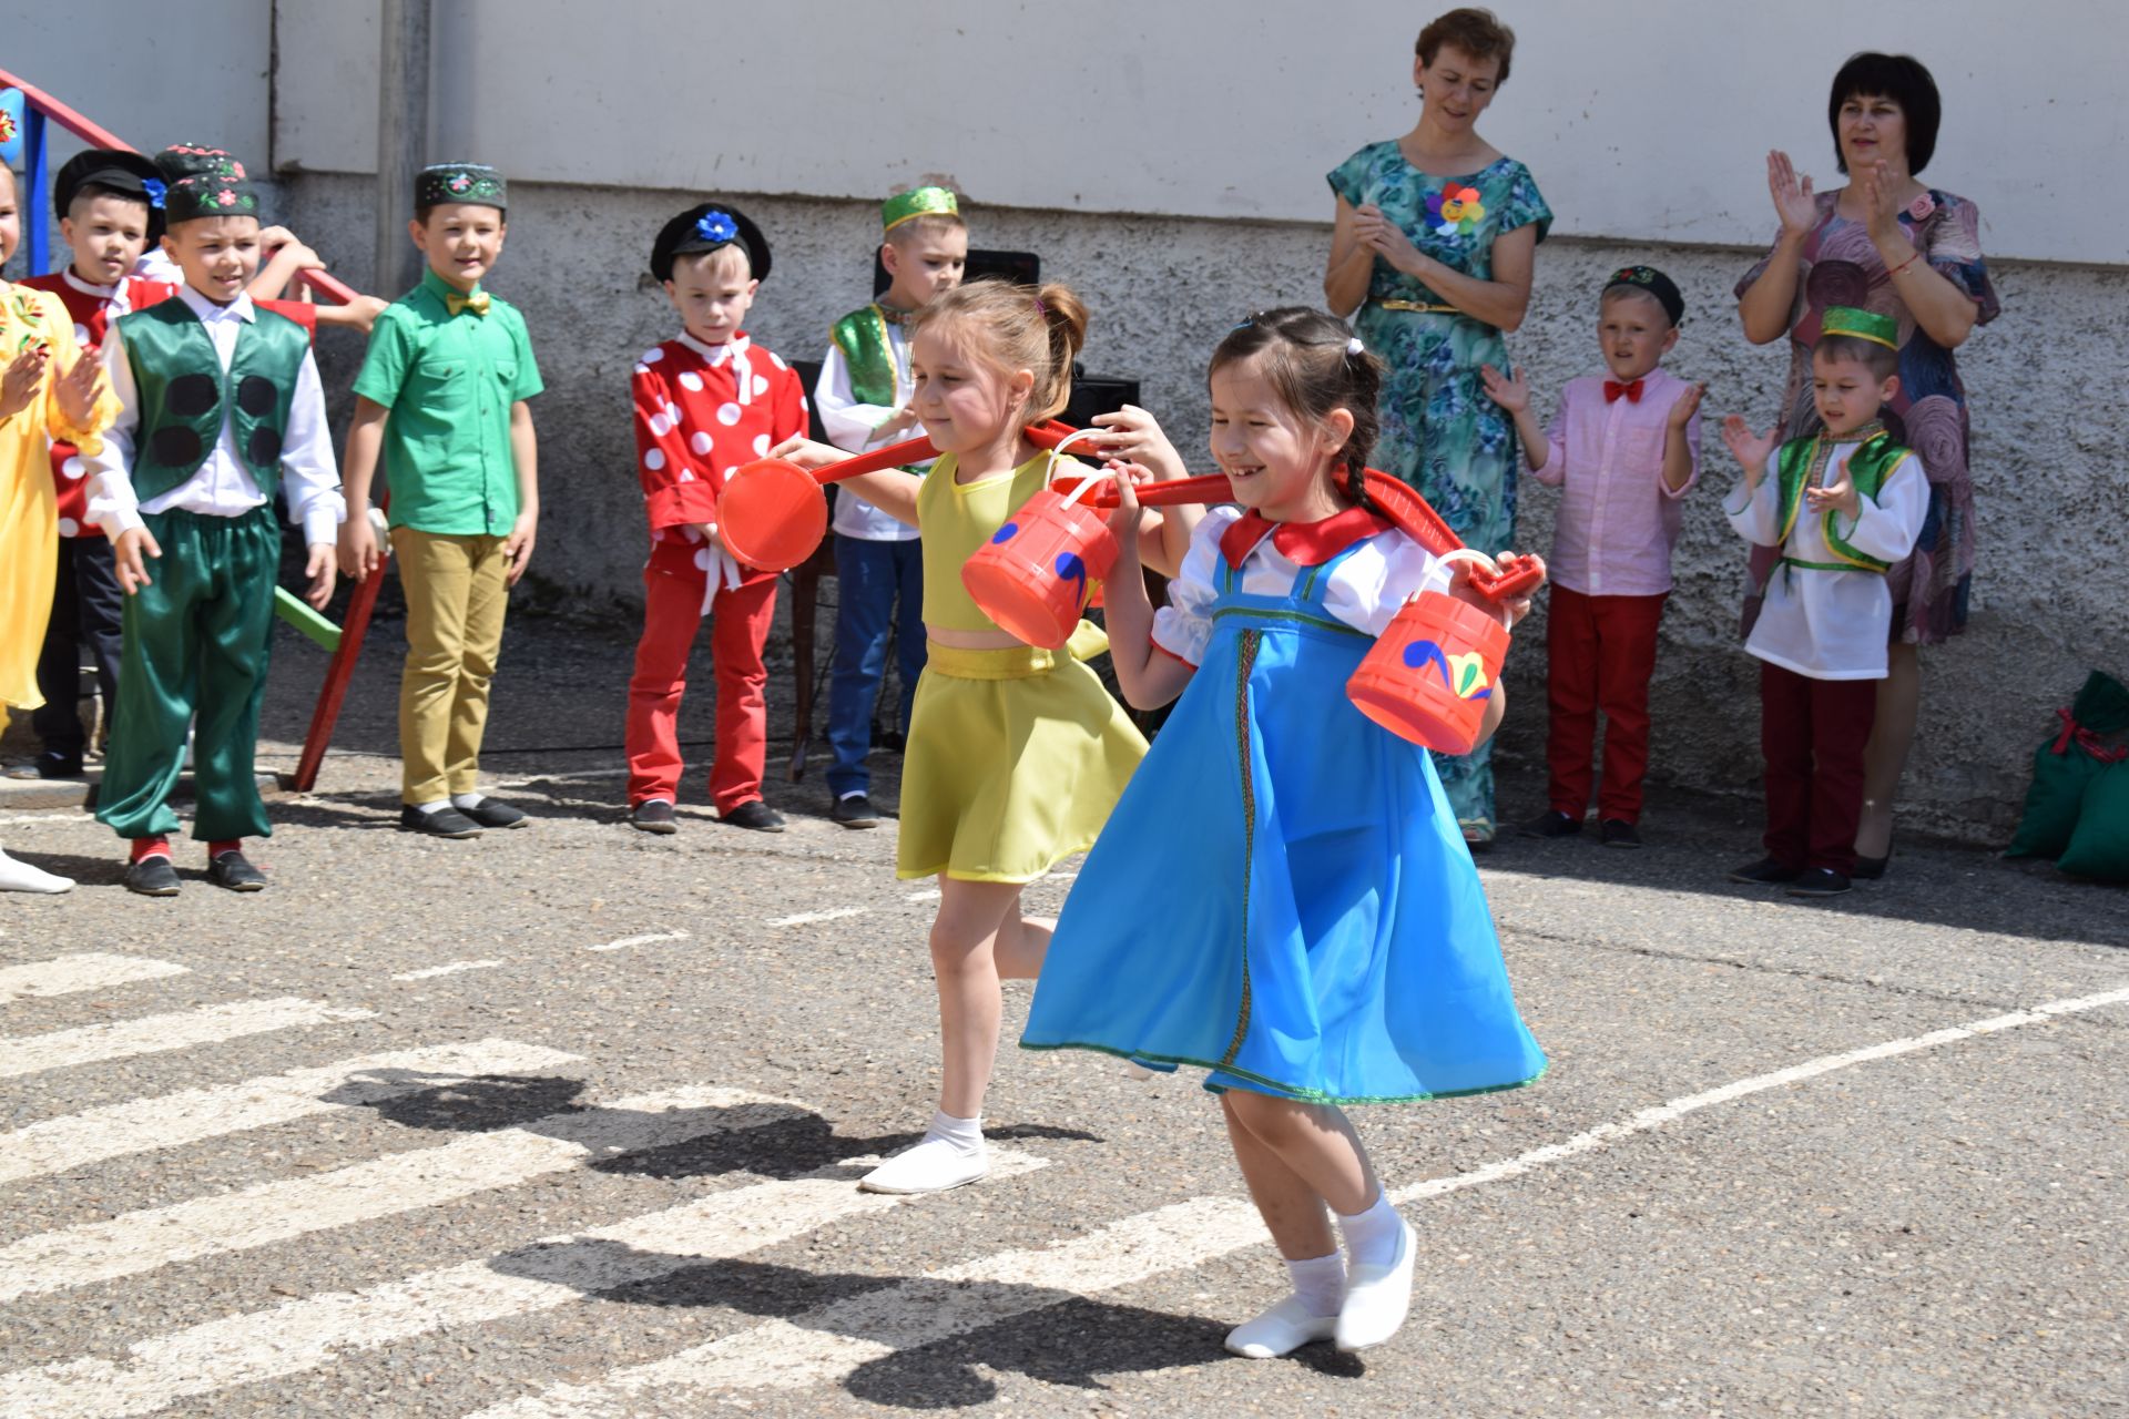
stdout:
MULTIPOLYGON (((1169 583, 1169 604, 1154 613, 1154 645, 1201 664, 1211 645, 1211 604, 1220 598, 1220 538, 1241 521, 1241 508, 1218 506, 1190 534, 1190 551, 1169 583)), ((1235 589, 1248 596, 1288 596, 1307 568, 1288 560, 1273 538, 1262 538, 1241 560, 1235 589)), ((1324 611, 1369 636, 1380 636, 1399 608, 1420 591, 1448 591, 1450 564, 1390 528, 1365 538, 1322 583, 1324 611)))

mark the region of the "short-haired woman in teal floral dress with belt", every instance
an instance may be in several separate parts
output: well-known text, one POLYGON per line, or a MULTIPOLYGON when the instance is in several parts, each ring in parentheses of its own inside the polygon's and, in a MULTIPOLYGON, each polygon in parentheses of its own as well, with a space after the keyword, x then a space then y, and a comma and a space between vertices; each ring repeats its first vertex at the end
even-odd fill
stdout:
MULTIPOLYGON (((1531 302, 1552 208, 1514 157, 1478 136, 1516 34, 1490 11, 1450 11, 1414 47, 1420 121, 1331 172, 1337 226, 1324 296, 1388 366, 1375 466, 1412 483, 1465 545, 1516 534, 1516 425, 1480 389, 1507 366, 1503 334, 1531 302)), ((1492 842, 1492 749, 1435 755, 1465 840, 1492 842)))

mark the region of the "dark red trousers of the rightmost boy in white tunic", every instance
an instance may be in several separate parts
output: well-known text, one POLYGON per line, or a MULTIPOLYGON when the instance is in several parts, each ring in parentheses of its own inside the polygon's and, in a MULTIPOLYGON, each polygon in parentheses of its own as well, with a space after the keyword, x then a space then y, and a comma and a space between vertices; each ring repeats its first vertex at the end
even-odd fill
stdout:
POLYGON ((1759 747, 1767 755, 1767 855, 1790 868, 1856 868, 1863 745, 1878 681, 1814 681, 1759 666, 1759 747))

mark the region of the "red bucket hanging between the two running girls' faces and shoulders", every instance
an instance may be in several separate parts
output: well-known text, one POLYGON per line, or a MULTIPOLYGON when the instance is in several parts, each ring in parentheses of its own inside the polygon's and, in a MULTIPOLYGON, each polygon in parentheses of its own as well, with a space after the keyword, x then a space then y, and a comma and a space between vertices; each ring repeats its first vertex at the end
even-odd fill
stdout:
POLYGON ((960 585, 981 613, 1028 645, 1064 649, 1094 583, 1116 566, 1107 513, 1079 502, 1101 481, 1084 479, 1069 498, 1037 491, 960 568, 960 585))

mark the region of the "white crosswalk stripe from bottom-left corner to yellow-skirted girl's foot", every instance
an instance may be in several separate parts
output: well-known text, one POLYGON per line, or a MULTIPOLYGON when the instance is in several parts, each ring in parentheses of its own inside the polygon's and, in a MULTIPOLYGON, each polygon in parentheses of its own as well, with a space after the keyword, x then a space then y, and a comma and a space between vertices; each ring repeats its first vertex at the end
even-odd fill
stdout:
MULTIPOLYGON (((149 1415, 177 1400, 300 1374, 413 1336, 571 1306, 913 1202, 858 1191, 852 1166, 732 1187, 581 1236, 547 1238, 362 1291, 328 1291, 232 1315, 138 1340, 121 1362, 72 1359, 19 1370, 0 1376, 0 1413, 38 1419, 149 1415)), ((1024 1153, 990 1155, 992 1179, 1041 1166, 1043 1159, 1024 1153)))

